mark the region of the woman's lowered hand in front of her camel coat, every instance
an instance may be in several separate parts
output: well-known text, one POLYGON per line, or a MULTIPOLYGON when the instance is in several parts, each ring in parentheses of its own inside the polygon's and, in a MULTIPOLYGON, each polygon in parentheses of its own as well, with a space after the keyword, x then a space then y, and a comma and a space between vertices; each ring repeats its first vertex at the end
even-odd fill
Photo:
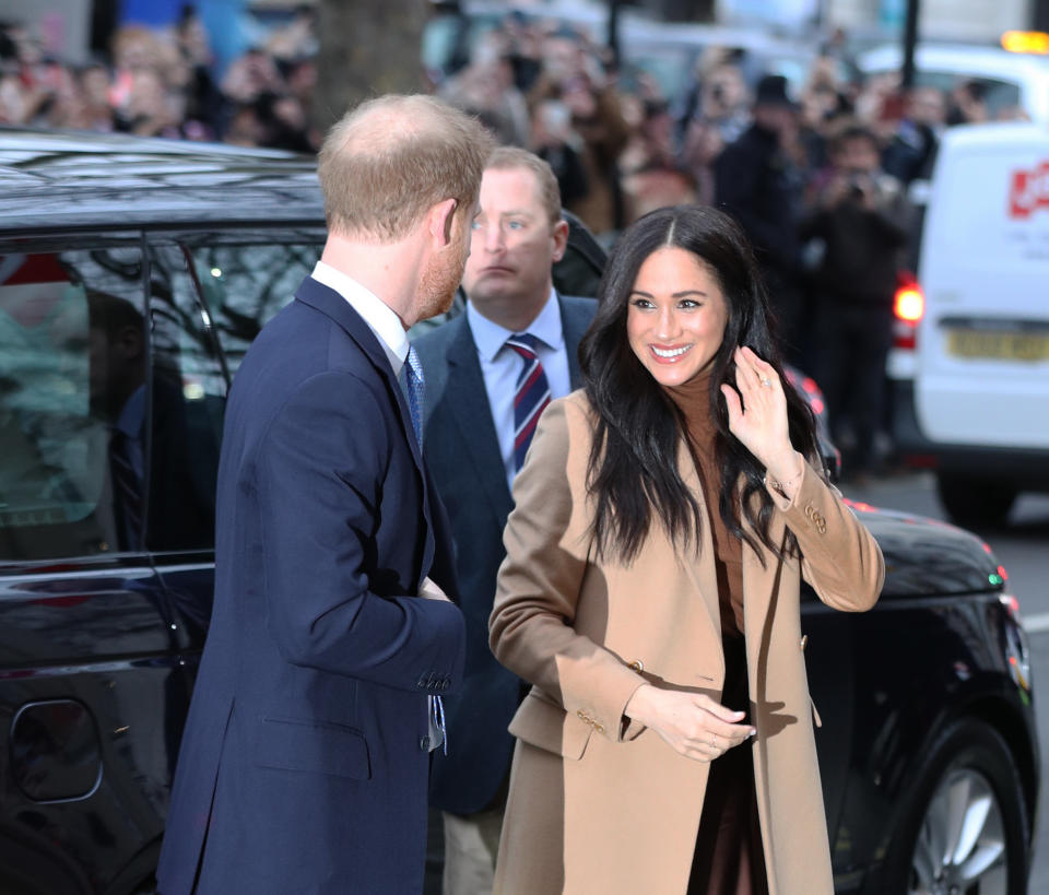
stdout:
POLYGON ((626 704, 626 715, 655 730, 687 758, 710 762, 756 732, 732 711, 702 693, 643 684, 626 704))

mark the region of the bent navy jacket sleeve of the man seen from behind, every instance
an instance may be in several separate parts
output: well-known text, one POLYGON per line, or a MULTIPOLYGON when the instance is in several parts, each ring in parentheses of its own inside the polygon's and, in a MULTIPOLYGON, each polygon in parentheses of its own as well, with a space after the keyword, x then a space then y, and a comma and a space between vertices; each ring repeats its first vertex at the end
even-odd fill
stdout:
POLYGON ((382 503, 396 449, 388 415, 365 382, 326 373, 304 382, 269 426, 255 470, 267 621, 288 662, 436 692, 461 678, 461 612, 369 590, 372 532, 378 514, 390 511, 382 503))

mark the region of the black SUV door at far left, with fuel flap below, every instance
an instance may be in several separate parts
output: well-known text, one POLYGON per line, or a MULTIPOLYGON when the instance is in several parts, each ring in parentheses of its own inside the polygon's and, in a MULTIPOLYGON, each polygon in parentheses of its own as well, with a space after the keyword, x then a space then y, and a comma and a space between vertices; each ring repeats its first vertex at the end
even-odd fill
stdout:
POLYGON ((173 611, 148 550, 141 234, 0 244, 0 891, 148 875, 173 611))

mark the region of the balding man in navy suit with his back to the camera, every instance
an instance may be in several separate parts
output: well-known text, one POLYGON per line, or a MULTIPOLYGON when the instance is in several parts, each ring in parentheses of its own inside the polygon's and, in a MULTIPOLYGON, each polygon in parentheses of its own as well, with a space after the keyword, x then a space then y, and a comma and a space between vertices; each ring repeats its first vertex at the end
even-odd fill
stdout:
POLYGON ((163 895, 422 891, 465 628, 405 333, 451 304, 491 148, 433 97, 386 96, 321 149, 323 254, 229 392, 163 895))

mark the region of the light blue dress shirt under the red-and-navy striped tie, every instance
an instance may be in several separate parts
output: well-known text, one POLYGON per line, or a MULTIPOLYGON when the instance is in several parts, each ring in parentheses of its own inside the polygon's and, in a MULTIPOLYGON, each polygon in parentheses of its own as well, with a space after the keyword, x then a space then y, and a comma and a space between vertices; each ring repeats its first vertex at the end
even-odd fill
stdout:
MULTIPOLYGON (((506 469, 506 483, 512 487, 517 474, 514 461, 514 396, 517 394, 517 377, 524 361, 514 349, 506 346, 506 340, 514 335, 514 331, 482 317, 472 302, 467 302, 467 320, 473 333, 473 343, 478 346, 484 389, 488 394, 492 422, 495 423, 499 454, 503 455, 506 469)), ((564 398, 571 391, 571 379, 556 292, 551 290, 543 309, 524 332, 539 340, 535 353, 550 384, 551 400, 564 398)))

